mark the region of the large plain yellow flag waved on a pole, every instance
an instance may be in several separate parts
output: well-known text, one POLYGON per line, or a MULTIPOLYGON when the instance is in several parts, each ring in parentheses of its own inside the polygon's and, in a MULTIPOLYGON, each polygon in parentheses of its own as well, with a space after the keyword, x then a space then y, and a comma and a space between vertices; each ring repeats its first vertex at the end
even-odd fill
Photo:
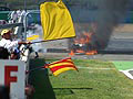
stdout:
POLYGON ((40 6, 43 40, 58 40, 75 36, 69 10, 62 2, 44 2, 40 6))

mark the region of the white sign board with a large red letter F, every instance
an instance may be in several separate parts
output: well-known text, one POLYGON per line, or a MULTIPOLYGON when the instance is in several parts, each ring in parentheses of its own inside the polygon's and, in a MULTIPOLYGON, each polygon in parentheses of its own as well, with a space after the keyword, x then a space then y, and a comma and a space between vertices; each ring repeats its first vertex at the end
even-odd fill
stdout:
POLYGON ((24 99, 25 63, 0 59, 0 85, 9 86, 11 99, 24 99))

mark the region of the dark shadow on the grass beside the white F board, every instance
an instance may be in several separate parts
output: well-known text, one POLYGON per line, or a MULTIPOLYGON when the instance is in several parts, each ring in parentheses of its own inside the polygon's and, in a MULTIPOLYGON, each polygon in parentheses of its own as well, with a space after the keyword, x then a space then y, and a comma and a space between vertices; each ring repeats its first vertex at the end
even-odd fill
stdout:
MULTIPOLYGON (((44 63, 44 59, 31 59, 30 69, 43 66, 44 63)), ((55 95, 48 76, 48 69, 30 73, 29 84, 33 85, 35 89, 31 99, 55 99, 55 95)))

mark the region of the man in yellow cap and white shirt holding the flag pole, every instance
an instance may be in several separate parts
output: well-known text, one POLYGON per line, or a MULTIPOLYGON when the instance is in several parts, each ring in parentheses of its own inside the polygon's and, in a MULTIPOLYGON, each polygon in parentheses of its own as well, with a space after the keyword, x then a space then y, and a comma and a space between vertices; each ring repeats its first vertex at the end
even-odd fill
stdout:
POLYGON ((21 44, 30 44, 30 42, 21 42, 21 41, 12 41, 11 38, 11 33, 12 31, 9 30, 9 29, 4 29, 2 32, 1 32, 1 41, 0 41, 0 46, 7 48, 9 51, 9 53, 11 54, 10 55, 10 58, 11 59, 18 59, 18 54, 19 54, 19 51, 18 51, 18 47, 21 45, 21 44))

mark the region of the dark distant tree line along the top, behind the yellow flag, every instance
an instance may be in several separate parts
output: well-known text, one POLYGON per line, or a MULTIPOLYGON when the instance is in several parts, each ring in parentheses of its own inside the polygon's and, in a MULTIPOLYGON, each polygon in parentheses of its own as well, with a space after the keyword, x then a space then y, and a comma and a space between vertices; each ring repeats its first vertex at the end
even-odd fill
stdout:
MULTIPOLYGON (((0 0, 0 7, 7 7, 11 10, 24 9, 24 1, 27 9, 39 9, 39 6, 44 1, 58 0, 0 0)), ((93 0, 62 0, 68 6, 82 6, 84 8, 95 8, 93 0)))

